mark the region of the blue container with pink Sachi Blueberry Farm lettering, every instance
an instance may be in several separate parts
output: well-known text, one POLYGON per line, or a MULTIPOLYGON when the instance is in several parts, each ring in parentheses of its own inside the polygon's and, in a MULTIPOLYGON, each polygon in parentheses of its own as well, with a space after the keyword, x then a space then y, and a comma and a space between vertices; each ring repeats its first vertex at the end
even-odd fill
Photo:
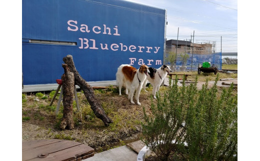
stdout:
POLYGON ((56 84, 68 54, 87 82, 115 80, 121 64, 158 68, 165 16, 124 0, 22 0, 23 84, 56 84))

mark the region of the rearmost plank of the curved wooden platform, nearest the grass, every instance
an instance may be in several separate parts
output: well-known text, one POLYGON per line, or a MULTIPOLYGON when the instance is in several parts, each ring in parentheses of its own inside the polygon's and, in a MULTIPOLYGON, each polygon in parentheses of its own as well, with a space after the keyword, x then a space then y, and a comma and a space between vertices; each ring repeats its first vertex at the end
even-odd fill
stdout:
POLYGON ((48 144, 62 142, 64 140, 59 139, 45 139, 45 140, 32 140, 32 141, 23 141, 22 142, 22 151, 27 151, 34 149, 36 147, 45 146, 48 144))

